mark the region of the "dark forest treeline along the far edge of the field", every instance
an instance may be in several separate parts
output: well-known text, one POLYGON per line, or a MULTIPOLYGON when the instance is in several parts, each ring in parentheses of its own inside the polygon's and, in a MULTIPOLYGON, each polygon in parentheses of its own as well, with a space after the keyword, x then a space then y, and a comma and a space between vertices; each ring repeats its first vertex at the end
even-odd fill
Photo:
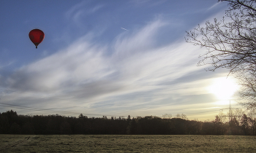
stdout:
POLYGON ((0 113, 0 134, 36 135, 256 135, 256 119, 242 115, 222 122, 182 119, 183 117, 78 117, 54 115, 18 115, 0 113))

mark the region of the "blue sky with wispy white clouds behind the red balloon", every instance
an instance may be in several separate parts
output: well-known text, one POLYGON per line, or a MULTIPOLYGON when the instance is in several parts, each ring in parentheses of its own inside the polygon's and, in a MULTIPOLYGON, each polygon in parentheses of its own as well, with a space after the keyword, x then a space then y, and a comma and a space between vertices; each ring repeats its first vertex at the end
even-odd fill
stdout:
POLYGON ((184 37, 226 9, 217 0, 0 1, 0 112, 214 119, 238 107, 236 79, 197 66, 207 50, 184 37), (45 33, 37 49, 34 28, 45 33))

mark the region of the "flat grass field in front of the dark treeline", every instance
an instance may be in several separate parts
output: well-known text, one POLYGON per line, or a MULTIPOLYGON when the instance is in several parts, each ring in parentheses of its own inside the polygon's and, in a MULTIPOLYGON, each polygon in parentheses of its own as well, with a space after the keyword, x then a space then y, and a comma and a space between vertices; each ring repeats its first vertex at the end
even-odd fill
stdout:
POLYGON ((0 152, 256 152, 256 136, 0 136, 0 152))

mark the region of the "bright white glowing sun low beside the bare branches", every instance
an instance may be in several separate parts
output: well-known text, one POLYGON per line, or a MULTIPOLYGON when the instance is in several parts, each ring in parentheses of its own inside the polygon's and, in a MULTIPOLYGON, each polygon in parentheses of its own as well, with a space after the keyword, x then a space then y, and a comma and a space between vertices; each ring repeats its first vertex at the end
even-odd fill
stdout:
POLYGON ((214 79, 208 90, 210 93, 216 95, 219 100, 230 100, 232 95, 238 90, 238 85, 235 79, 231 77, 219 77, 214 79))

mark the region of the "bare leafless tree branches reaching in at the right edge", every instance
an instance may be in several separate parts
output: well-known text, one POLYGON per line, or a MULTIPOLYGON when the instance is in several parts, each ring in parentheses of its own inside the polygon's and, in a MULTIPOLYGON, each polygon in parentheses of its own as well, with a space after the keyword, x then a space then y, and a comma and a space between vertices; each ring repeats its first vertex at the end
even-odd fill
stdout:
MULTIPOLYGON (((210 64, 214 71, 227 68, 240 79, 242 90, 238 93, 245 100, 247 109, 255 109, 256 102, 256 0, 227 1, 229 9, 222 20, 206 22, 187 32, 186 42, 206 47, 200 55, 198 66, 210 64)), ((229 74, 230 74, 229 73, 229 74)))

